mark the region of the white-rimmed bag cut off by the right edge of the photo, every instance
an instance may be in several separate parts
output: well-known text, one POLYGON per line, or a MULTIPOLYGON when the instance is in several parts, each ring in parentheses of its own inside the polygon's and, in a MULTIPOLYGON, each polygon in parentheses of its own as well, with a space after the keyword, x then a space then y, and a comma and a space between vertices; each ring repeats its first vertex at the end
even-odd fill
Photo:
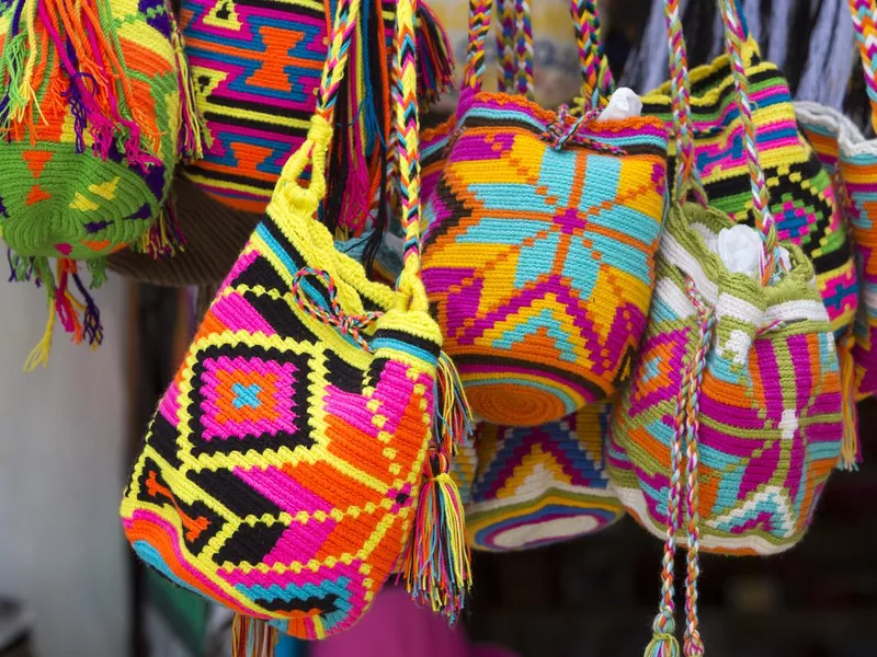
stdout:
MULTIPOLYGON (((838 197, 855 237, 861 296, 853 331, 855 373, 844 370, 844 394, 850 385, 858 399, 877 394, 877 140, 865 139, 841 113, 816 103, 795 103, 798 123, 834 176, 838 197)), ((842 361, 843 365, 843 361, 842 361)), ((852 399, 844 400, 852 402, 852 399)))

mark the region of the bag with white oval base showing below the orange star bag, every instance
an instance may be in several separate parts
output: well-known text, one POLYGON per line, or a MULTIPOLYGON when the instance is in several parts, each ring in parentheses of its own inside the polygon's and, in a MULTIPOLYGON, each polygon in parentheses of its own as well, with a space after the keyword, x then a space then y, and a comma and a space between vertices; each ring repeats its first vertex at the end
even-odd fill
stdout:
POLYGON ((466 505, 469 544, 528 550, 605 529, 624 516, 610 486, 607 404, 542 427, 476 429, 478 468, 466 505))

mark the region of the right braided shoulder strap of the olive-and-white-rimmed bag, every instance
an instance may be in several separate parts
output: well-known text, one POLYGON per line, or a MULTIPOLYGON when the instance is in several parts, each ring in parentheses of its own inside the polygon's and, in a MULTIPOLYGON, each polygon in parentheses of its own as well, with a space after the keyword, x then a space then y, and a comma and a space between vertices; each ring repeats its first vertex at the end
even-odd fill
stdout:
POLYGON ((755 228, 762 238, 762 254, 759 258, 759 272, 762 285, 767 285, 781 266, 778 256, 779 240, 776 234, 776 221, 771 214, 767 183, 759 161, 759 148, 755 141, 755 123, 749 101, 749 79, 743 64, 743 43, 745 27, 740 20, 740 12, 734 0, 718 0, 721 20, 725 24, 725 47, 731 61, 733 85, 737 95, 737 107, 743 123, 743 149, 747 155, 750 187, 752 188, 752 214, 755 228))

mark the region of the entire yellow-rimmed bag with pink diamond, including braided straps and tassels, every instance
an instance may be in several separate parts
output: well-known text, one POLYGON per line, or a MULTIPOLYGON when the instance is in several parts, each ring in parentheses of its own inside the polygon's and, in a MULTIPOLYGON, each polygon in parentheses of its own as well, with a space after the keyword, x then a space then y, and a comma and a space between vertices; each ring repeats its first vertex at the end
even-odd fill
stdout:
POLYGON ((344 630, 394 569, 453 619, 469 583, 448 475, 469 418, 420 281, 410 0, 396 34, 397 288, 367 280, 316 217, 358 10, 338 3, 309 137, 161 400, 121 508, 140 558, 232 609, 244 638, 263 621, 303 638, 344 630))

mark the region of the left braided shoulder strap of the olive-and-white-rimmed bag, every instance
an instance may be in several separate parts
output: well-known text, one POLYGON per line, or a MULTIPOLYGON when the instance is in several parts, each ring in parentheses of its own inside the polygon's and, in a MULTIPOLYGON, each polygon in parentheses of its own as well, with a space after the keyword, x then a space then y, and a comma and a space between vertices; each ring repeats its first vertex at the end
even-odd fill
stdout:
POLYGON ((667 19, 667 44, 670 50, 670 96, 673 111, 673 132, 676 141, 675 198, 684 203, 688 191, 694 199, 706 207, 707 197, 694 149, 694 124, 691 113, 691 82, 688 80, 688 56, 682 34, 679 0, 664 1, 667 19))

